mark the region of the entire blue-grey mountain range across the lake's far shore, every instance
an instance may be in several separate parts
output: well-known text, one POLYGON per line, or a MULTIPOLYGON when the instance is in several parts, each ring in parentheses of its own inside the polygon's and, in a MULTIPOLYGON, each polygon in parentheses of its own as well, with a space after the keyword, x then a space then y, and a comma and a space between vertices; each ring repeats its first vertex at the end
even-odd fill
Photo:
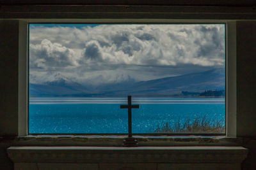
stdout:
POLYGON ((171 97, 179 96, 182 91, 204 92, 205 90, 225 89, 225 73, 212 69, 201 73, 184 74, 148 81, 127 81, 100 85, 93 90, 86 85, 58 78, 44 85, 29 84, 29 95, 33 97, 171 97), (96 89, 96 90, 95 90, 96 89))

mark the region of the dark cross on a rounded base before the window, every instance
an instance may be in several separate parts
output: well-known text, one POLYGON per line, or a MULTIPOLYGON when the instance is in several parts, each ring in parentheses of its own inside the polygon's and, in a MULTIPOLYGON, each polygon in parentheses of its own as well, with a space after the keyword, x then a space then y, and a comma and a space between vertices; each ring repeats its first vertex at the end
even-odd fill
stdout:
POLYGON ((128 109, 128 138, 124 140, 125 146, 138 146, 137 141, 132 138, 132 109, 138 109, 138 104, 132 105, 132 97, 128 96, 128 105, 120 105, 121 109, 128 109))

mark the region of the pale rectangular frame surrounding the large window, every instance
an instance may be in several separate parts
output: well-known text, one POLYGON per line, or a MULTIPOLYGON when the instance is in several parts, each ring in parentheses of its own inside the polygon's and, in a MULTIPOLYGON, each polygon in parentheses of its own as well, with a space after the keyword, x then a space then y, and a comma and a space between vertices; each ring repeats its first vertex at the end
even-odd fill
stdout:
POLYGON ((227 20, 150 20, 145 19, 141 22, 140 19, 130 20, 81 20, 74 22, 74 20, 20 20, 19 24, 19 136, 28 135, 114 135, 122 136, 125 134, 29 134, 29 24, 225 24, 225 134, 134 134, 139 136, 227 136, 236 137, 236 22, 227 20), (22 32, 22 34, 21 34, 22 32), (26 33, 25 33, 26 32, 26 33), (26 50, 25 50, 26 49, 26 50), (25 73, 24 73, 25 72, 25 73), (26 80, 26 81, 24 81, 26 80), (235 87, 234 87, 235 86, 235 87), (228 100, 230 99, 230 100, 228 100))

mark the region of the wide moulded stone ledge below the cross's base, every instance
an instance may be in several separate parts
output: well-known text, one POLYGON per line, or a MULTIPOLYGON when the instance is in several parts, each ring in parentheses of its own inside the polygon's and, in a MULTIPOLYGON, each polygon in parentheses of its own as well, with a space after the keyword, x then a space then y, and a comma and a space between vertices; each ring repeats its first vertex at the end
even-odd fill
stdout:
POLYGON ((13 162, 85 163, 241 163, 248 153, 241 146, 12 146, 13 162))

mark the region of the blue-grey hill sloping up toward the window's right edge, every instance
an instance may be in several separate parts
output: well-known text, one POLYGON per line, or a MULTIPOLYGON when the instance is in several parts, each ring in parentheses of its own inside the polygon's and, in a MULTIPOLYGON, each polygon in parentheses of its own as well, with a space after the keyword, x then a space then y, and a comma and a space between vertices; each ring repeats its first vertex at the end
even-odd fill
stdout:
POLYGON ((182 91, 202 92, 204 90, 225 89, 225 74, 220 69, 201 73, 184 74, 156 80, 140 81, 132 87, 132 94, 147 92, 148 95, 168 96, 182 91))

